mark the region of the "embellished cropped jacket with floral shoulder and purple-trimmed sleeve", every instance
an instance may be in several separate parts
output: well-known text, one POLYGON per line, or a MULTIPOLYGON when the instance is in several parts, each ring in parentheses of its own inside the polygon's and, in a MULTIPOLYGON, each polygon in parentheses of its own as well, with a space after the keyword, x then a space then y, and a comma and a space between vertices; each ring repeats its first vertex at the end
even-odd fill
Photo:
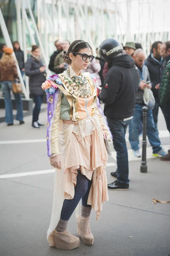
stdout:
POLYGON ((83 73, 77 77, 64 71, 62 74, 50 76, 42 84, 42 89, 47 93, 48 157, 60 154, 58 140, 61 120, 71 120, 73 123, 81 124, 86 118, 96 118, 103 132, 109 134, 103 111, 96 97, 96 78, 93 74, 83 73))

